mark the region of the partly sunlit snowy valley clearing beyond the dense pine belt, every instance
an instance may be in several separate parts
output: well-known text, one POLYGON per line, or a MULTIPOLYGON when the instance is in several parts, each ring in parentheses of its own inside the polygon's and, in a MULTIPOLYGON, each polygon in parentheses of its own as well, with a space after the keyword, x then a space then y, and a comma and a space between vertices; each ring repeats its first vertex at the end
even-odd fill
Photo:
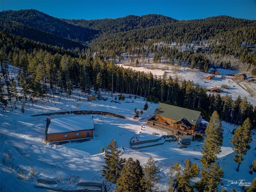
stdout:
POLYGON ((241 98, 246 97, 248 102, 250 102, 253 106, 256 106, 256 81, 234 82, 234 77, 228 76, 228 74, 242 73, 245 73, 247 76, 252 76, 248 72, 218 68, 217 70, 220 71, 220 75, 216 75, 215 78, 211 80, 206 80, 205 77, 209 76, 210 74, 201 72, 196 68, 190 69, 188 67, 178 67, 164 63, 154 63, 151 60, 150 62, 148 62, 147 59, 140 60, 138 65, 124 60, 122 61, 122 64, 120 64, 120 66, 123 66, 124 68, 130 67, 133 70, 144 71, 145 73, 151 72, 153 75, 156 76, 162 76, 164 72, 167 72, 167 76, 172 76, 173 79, 178 78, 180 82, 182 82, 183 80, 193 80, 194 84, 198 83, 199 86, 205 88, 214 88, 216 86, 227 85, 229 89, 221 88, 223 90, 223 92, 220 94, 221 96, 231 94, 232 99, 235 100, 240 95, 241 98), (226 78, 221 78, 221 76, 225 76, 226 78))

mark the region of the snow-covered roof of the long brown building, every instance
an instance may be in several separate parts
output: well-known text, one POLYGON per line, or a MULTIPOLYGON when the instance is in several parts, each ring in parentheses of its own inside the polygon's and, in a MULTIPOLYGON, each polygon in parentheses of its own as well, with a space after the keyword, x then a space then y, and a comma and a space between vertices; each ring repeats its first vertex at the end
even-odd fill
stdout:
POLYGON ((50 119, 47 134, 92 129, 94 129, 94 121, 92 116, 80 115, 77 117, 50 119))

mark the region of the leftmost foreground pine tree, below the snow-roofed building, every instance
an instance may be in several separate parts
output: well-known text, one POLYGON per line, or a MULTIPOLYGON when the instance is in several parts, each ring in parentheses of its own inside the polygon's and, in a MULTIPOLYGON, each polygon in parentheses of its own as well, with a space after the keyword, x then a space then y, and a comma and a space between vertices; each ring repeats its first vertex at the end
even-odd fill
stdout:
POLYGON ((105 176, 106 181, 115 184, 120 177, 125 159, 120 158, 121 151, 118 150, 116 140, 112 139, 106 148, 110 151, 105 150, 104 160, 106 165, 102 165, 102 175, 105 176))

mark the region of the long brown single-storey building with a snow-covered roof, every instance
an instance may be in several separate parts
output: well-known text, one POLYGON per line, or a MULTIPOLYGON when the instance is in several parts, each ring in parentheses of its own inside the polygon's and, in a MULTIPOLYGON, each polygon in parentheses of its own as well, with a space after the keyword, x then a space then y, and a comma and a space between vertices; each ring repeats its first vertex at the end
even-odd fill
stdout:
POLYGON ((63 141, 93 137, 92 116, 80 115, 68 118, 47 118, 46 141, 63 141))

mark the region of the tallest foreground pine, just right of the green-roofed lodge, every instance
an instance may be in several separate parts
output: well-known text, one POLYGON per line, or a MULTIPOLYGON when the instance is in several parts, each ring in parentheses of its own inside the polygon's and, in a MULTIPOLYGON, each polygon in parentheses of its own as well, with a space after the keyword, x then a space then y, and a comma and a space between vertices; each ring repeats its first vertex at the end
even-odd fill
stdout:
POLYGON ((220 183, 220 178, 223 176, 222 168, 215 160, 223 142, 223 131, 221 128, 219 114, 214 111, 208 126, 206 127, 204 144, 202 147, 202 180, 198 182, 197 189, 199 192, 204 190, 209 192, 217 191, 217 186, 220 183))

